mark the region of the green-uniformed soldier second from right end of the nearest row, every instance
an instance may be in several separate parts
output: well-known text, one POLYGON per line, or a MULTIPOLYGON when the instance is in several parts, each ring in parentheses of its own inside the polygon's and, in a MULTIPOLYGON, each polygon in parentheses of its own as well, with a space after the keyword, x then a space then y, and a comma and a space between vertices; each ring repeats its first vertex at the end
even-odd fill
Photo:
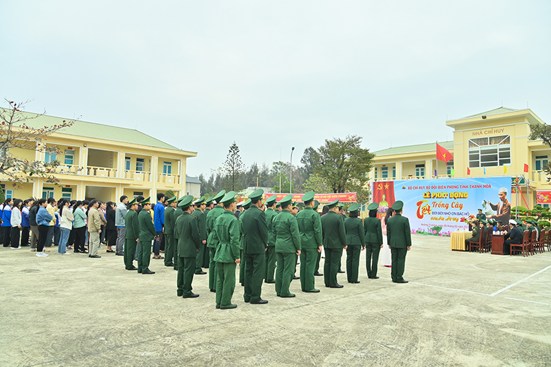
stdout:
POLYGON ((379 252, 383 247, 383 231, 381 220, 377 218, 379 204, 372 202, 368 205, 368 218, 364 219, 364 239, 366 240, 366 269, 369 279, 377 277, 377 264, 379 263, 379 252))

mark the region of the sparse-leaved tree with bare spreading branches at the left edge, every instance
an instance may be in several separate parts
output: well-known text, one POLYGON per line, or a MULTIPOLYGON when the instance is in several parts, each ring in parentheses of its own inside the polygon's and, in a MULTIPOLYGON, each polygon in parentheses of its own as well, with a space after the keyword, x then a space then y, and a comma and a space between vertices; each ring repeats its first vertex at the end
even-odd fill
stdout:
POLYGON ((63 120, 60 125, 31 127, 28 122, 43 116, 45 112, 42 114, 24 112, 28 101, 15 103, 6 99, 6 102, 10 107, 0 108, 0 174, 12 182, 30 182, 34 178, 41 178, 45 182, 59 184, 59 178, 55 176, 59 160, 42 162, 41 160, 21 159, 12 153, 12 149, 61 154, 59 148, 47 146, 43 142, 52 133, 72 126, 74 120, 63 120))

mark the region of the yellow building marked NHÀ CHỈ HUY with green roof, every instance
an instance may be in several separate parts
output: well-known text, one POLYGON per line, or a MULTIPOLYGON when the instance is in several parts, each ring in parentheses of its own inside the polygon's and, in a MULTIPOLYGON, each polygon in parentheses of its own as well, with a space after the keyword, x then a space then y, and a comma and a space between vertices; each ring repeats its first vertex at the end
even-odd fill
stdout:
MULTIPOLYGON (((436 159, 436 142, 407 145, 374 151, 375 165, 368 176, 374 181, 518 177, 520 191, 532 207, 536 192, 550 189, 543 167, 551 155, 542 140, 530 140, 532 124, 543 124, 532 110, 507 107, 447 120, 453 140, 438 142, 453 154, 447 165, 436 159)), ((518 205, 526 206, 521 196, 510 195, 509 200, 512 205, 518 200, 518 205)))

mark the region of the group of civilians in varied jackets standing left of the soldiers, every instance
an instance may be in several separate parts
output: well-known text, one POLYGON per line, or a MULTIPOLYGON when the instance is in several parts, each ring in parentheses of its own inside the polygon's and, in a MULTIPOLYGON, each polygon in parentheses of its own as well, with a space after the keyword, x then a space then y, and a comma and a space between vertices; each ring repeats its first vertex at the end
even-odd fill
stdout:
MULTIPOLYGON (((121 197, 121 202, 125 200, 121 197)), ((67 249, 73 247, 74 253, 87 254, 85 244, 90 244, 90 258, 99 258, 103 242, 107 252, 114 253, 111 246, 116 246, 116 255, 123 255, 124 213, 116 216, 116 209, 114 202, 98 200, 8 198, 0 204, 0 244, 12 249, 30 246, 40 257, 48 256, 54 245, 61 255, 70 255, 67 249)))

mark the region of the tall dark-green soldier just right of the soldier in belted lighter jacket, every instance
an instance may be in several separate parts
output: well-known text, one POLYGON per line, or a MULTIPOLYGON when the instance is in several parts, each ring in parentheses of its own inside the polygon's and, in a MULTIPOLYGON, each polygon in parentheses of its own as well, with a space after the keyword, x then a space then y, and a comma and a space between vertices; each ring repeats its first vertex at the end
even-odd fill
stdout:
POLYGON ((262 280, 266 274, 266 249, 268 247, 268 225, 266 214, 260 210, 264 190, 258 189, 249 195, 251 206, 241 214, 243 227, 243 255, 245 257, 245 302, 267 304, 262 300, 262 280))

